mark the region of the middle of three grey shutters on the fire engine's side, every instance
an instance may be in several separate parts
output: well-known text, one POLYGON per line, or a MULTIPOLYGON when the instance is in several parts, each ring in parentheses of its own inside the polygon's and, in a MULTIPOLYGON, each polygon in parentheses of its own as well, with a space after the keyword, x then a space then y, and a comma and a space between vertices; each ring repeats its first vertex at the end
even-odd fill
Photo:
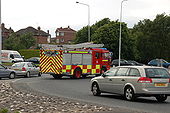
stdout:
POLYGON ((82 54, 72 54, 72 64, 82 64, 82 54))

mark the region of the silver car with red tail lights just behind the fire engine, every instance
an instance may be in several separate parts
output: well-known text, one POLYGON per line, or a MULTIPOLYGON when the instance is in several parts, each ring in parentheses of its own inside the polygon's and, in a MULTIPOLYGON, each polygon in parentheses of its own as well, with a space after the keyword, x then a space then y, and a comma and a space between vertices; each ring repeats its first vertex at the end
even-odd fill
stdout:
POLYGON ((27 78, 31 75, 41 76, 39 67, 32 62, 18 62, 13 64, 11 68, 15 70, 16 75, 24 75, 27 78))

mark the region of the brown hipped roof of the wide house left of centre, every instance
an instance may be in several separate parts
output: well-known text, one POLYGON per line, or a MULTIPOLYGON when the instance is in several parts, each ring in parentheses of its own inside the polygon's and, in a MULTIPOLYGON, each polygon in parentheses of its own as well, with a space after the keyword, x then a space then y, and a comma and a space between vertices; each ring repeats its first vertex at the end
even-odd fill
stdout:
POLYGON ((32 33, 34 36, 50 36, 50 34, 42 31, 42 30, 37 30, 31 26, 24 28, 24 29, 20 29, 19 31, 16 32, 16 34, 25 34, 25 33, 32 33))

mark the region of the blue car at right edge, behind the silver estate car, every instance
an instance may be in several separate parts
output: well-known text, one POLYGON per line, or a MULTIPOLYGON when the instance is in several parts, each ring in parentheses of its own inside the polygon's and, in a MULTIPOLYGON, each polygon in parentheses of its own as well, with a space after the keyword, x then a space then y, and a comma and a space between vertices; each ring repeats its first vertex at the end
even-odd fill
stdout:
POLYGON ((170 63, 164 59, 153 59, 148 63, 149 66, 163 66, 170 69, 170 63))

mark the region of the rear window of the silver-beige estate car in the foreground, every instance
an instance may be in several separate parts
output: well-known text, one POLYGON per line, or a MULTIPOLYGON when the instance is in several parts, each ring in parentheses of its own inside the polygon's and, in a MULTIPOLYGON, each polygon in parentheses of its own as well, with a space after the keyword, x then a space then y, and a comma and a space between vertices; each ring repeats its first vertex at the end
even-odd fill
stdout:
POLYGON ((170 78, 169 72, 164 68, 146 68, 145 73, 149 78, 170 78))

